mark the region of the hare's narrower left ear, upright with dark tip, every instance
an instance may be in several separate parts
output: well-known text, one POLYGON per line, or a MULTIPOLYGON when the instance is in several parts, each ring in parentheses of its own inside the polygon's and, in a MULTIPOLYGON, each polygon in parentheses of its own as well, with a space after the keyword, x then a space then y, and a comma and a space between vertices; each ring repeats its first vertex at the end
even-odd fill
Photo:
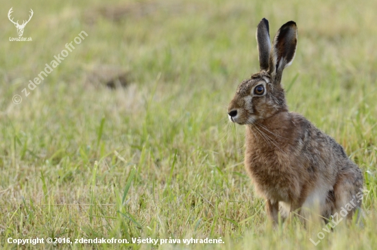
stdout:
POLYGON ((269 68, 271 42, 269 40, 269 25, 266 18, 263 18, 256 28, 256 43, 258 45, 260 71, 267 71, 269 68))

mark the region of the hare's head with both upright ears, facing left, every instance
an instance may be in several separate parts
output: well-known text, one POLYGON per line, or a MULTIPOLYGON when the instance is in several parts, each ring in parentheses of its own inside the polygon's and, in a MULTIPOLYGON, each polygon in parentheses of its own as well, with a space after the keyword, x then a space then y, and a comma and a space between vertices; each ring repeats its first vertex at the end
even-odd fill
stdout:
POLYGON ((271 48, 269 24, 263 18, 256 29, 260 72, 245 79, 237 88, 236 95, 228 106, 230 121, 252 124, 287 110, 284 89, 280 84, 282 71, 291 65, 297 45, 297 27, 289 21, 282 25, 271 48))

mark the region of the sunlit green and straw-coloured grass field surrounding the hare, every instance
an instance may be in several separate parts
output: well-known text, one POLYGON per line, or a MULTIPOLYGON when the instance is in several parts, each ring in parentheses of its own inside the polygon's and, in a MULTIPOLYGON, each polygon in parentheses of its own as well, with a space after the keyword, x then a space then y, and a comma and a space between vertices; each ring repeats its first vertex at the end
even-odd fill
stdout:
POLYGON ((377 1, 3 1, 0 246, 8 238, 125 238, 73 249, 377 249, 377 1), (32 8, 23 37, 16 28, 32 8), (258 71, 256 25, 296 21, 290 110, 362 169, 365 227, 271 229, 226 108, 258 71), (74 41, 64 60, 38 77, 74 41), (109 88, 108 85, 114 85, 109 88), (25 90, 29 95, 25 95, 25 90), (21 103, 12 97, 20 95, 21 103), (318 233, 324 239, 315 246, 318 233), (321 234, 320 234, 321 236, 321 234), (132 244, 132 238, 180 244, 132 244), (184 245, 189 238, 223 244, 184 245))

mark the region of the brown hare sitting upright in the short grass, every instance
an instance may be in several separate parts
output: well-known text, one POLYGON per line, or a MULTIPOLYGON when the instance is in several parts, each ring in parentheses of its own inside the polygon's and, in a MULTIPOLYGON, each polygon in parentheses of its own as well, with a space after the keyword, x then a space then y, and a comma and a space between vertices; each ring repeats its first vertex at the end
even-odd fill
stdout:
POLYGON ((245 168, 256 194, 266 201, 266 214, 276 224, 278 212, 284 219, 317 206, 325 221, 342 211, 352 218, 361 205, 360 168, 333 138, 288 111, 280 84, 282 71, 295 57, 296 23, 282 25, 271 47, 269 23, 263 18, 256 40, 260 72, 241 82, 228 117, 246 125, 245 168))

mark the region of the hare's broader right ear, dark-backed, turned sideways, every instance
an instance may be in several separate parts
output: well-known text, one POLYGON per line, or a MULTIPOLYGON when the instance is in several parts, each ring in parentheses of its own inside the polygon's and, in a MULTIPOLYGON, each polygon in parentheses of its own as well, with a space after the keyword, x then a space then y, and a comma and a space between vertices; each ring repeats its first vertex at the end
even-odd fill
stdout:
POLYGON ((296 47, 297 26, 295 22, 289 21, 276 32, 269 55, 269 73, 277 82, 280 83, 283 69, 293 62, 296 47))

